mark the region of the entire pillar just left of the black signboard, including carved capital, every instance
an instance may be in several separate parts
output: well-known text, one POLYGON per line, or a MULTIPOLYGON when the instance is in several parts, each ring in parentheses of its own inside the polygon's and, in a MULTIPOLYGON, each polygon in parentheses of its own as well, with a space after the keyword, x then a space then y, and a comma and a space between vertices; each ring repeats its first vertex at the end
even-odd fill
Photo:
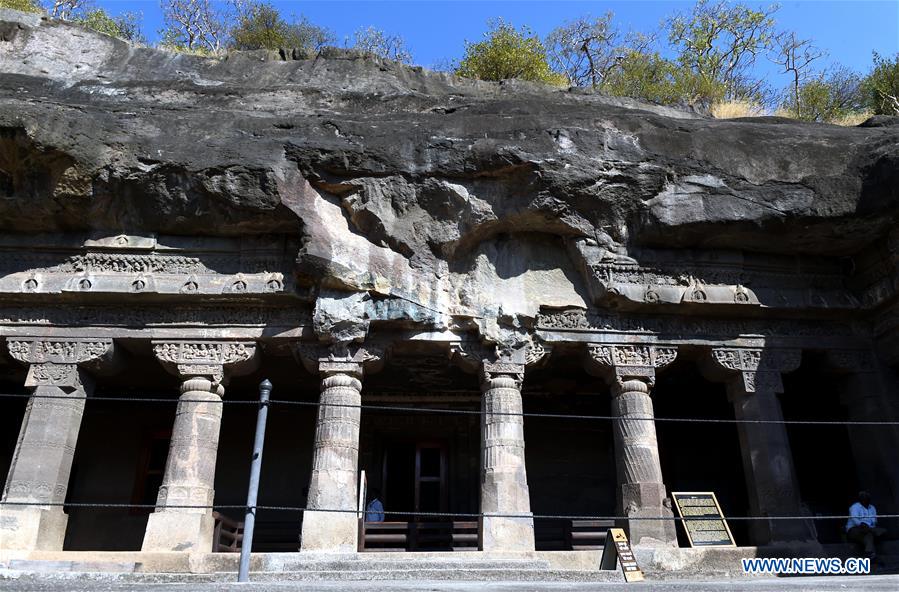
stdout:
MULTIPOLYGON (((673 517, 662 479, 655 413, 650 391, 655 371, 677 357, 669 347, 591 345, 592 363, 611 370, 615 465, 619 508, 628 518, 673 517)), ((673 520, 631 520, 631 540, 638 545, 674 545, 673 520)))

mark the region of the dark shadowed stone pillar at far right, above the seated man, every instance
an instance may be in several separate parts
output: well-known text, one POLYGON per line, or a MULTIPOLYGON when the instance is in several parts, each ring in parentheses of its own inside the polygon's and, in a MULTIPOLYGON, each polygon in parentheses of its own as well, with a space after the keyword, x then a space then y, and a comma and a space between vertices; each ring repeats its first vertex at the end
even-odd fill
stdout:
MULTIPOLYGON (((871 352, 834 350, 827 357, 834 370, 845 373, 840 402, 849 421, 896 420, 895 403, 871 352)), ((899 512, 899 429, 850 425, 847 431, 860 489, 871 493, 879 514, 899 512)))

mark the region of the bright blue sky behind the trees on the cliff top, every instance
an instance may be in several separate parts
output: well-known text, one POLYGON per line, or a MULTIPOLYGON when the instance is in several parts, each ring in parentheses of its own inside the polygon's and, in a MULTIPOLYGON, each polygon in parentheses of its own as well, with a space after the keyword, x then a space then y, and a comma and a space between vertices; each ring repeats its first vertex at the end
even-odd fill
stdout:
MULTIPOLYGON (((162 27, 159 0, 95 0, 110 13, 143 13, 144 33, 151 41, 162 27)), ((328 27, 342 40, 369 25, 403 36, 416 64, 431 66, 462 56, 465 41, 477 41, 486 21, 502 17, 528 25, 541 36, 566 20, 581 15, 615 13, 621 29, 657 30, 666 16, 687 11, 693 2, 630 0, 595 1, 478 1, 478 0, 275 0, 285 15, 302 14, 328 27)), ((754 6, 768 5, 749 2, 754 6)), ((860 72, 871 64, 871 52, 899 52, 899 0, 792 0, 781 1, 778 26, 816 40, 839 62, 860 72)), ((760 71, 775 76, 775 66, 760 60, 760 71)))

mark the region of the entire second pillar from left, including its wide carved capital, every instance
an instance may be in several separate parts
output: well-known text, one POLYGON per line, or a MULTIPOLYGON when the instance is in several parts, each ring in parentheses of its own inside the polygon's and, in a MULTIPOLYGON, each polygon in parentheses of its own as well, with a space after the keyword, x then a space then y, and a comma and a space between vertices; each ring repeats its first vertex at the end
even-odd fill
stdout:
POLYGON ((154 342, 166 369, 182 380, 169 455, 156 511, 147 521, 142 550, 212 551, 215 463, 222 422, 226 366, 246 364, 253 343, 154 342))

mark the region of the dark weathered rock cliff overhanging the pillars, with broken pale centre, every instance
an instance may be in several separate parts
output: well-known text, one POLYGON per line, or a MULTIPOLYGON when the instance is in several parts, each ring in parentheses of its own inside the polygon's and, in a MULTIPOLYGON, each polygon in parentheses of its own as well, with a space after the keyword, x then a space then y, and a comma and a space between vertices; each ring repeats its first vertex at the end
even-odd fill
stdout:
POLYGON ((0 11, 0 231, 286 235, 323 332, 814 304, 722 260, 824 270, 824 305, 855 306, 837 258, 897 206, 891 120, 717 121, 338 51, 209 60, 0 11), (648 268, 668 279, 622 279, 648 268))

